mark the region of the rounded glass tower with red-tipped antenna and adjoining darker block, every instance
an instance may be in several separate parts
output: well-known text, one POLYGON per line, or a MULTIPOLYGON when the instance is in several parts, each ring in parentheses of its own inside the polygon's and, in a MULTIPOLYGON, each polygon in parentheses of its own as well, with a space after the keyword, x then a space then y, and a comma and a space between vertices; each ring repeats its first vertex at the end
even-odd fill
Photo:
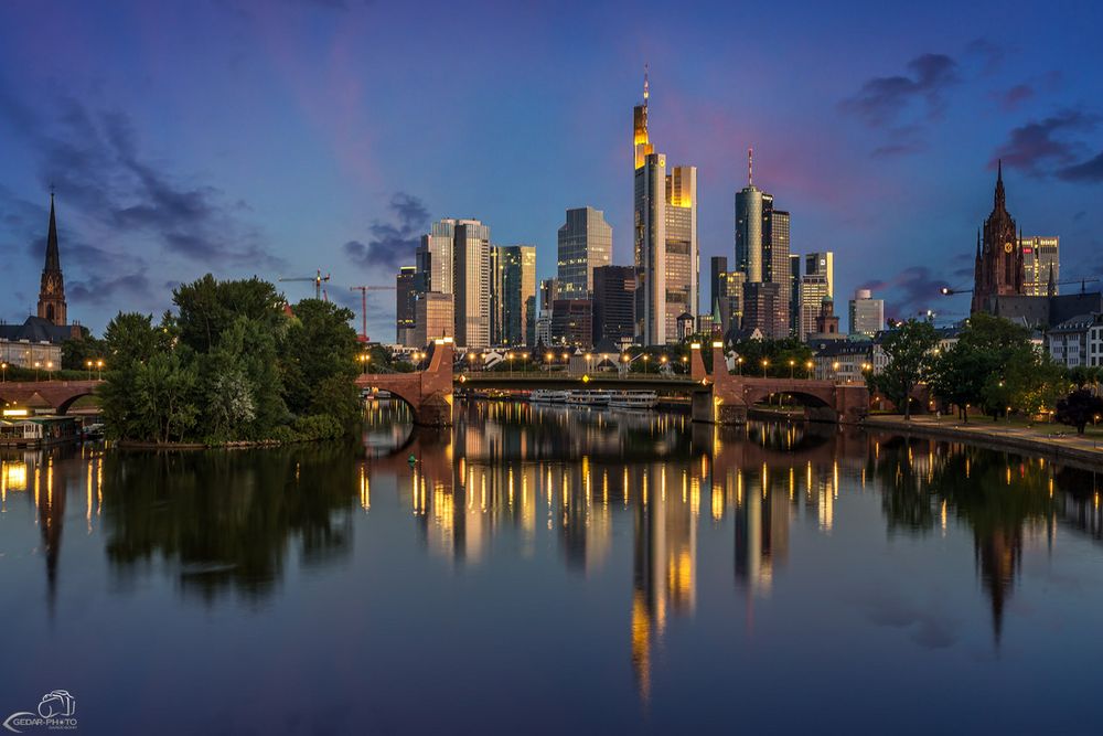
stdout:
POLYGON ((757 320, 748 322, 749 310, 743 309, 743 328, 758 328, 770 338, 784 338, 790 332, 790 214, 774 210, 773 195, 754 185, 751 149, 747 150, 747 186, 736 192, 736 269, 747 274, 747 284, 777 284, 779 299, 774 301, 778 313, 765 316, 754 311, 757 320))

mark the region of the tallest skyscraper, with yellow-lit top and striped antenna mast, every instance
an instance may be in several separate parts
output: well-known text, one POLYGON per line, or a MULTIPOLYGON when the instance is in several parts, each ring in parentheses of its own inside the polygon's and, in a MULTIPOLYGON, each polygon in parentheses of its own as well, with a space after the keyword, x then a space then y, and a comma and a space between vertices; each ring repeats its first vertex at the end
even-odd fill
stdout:
POLYGON ((654 152, 647 130, 646 75, 643 88, 632 116, 635 319, 639 340, 655 345, 675 339, 682 313, 697 312, 697 169, 679 166, 667 174, 666 157, 654 152))

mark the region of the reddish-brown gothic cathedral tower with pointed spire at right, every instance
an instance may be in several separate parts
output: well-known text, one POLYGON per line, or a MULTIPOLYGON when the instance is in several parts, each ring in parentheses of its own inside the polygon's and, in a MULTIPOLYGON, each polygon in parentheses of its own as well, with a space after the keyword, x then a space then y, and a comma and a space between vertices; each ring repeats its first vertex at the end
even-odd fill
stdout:
POLYGON ((1015 221, 1004 200, 1004 167, 996 173, 996 202, 984 221, 984 239, 976 236, 973 313, 989 311, 990 297, 1024 295, 1022 236, 1015 236, 1015 221))

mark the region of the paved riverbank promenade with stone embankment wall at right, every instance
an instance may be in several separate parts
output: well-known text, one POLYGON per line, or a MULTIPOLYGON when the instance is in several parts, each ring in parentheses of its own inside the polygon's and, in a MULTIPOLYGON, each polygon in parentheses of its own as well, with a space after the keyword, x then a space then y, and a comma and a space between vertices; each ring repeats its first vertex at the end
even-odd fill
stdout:
POLYGON ((861 424, 869 429, 960 439, 982 447, 1022 450, 1050 460, 1103 466, 1103 438, 1095 433, 1080 436, 1074 427, 1062 431, 1062 425, 1026 425, 990 419, 961 423, 954 417, 930 415, 914 416, 907 422, 901 416, 876 415, 866 417, 861 424))

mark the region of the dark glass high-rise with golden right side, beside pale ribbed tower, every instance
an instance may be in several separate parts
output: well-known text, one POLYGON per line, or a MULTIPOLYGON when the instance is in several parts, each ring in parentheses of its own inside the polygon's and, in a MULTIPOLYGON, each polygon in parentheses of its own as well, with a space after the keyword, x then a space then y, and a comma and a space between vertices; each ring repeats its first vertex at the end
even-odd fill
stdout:
POLYGON ((500 245, 491 255, 491 342, 528 344, 528 310, 536 297, 536 246, 500 245))

